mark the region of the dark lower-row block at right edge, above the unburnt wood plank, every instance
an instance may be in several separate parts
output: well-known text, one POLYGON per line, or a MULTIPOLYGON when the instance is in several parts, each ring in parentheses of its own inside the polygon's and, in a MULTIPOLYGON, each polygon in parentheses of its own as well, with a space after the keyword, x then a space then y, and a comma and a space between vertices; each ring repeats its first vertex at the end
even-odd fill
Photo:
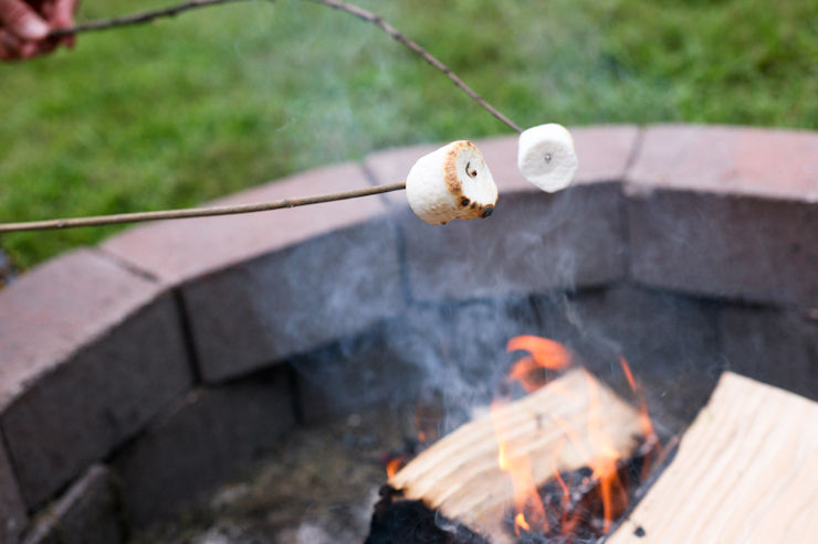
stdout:
POLYGON ((818 399, 818 319, 774 308, 730 305, 719 326, 728 369, 818 399))

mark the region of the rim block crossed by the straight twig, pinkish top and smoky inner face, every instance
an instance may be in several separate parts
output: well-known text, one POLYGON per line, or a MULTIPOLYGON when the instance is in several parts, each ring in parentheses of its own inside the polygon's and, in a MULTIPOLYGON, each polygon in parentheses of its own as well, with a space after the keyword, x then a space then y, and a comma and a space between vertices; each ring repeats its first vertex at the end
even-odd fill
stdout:
MULTIPOLYGON (((369 186, 336 164, 216 204, 369 186)), ((103 245, 182 292, 206 381, 269 366, 400 311, 397 242, 378 196, 292 210, 157 223, 103 245)))

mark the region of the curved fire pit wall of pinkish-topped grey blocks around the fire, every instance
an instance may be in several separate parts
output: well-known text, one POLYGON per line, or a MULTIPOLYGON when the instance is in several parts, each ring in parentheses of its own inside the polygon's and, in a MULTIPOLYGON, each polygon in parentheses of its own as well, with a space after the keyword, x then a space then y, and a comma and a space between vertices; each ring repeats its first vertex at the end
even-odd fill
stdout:
MULTIPOLYGON (((627 344, 672 299, 659 326, 690 334, 671 356, 693 338, 717 355, 691 361, 716 356, 818 396, 818 134, 573 134, 578 179, 556 195, 522 179, 516 137, 476 142, 501 190, 486 221, 432 227, 390 193, 157 223, 0 291, 0 543, 120 541, 123 508, 145 525, 333 408, 280 362, 310 364, 305 354, 396 319, 422 324, 441 301, 567 290, 627 344)), ((377 152, 220 203, 399 181, 432 149, 377 152)), ((361 352, 382 351, 375 342, 361 352)))

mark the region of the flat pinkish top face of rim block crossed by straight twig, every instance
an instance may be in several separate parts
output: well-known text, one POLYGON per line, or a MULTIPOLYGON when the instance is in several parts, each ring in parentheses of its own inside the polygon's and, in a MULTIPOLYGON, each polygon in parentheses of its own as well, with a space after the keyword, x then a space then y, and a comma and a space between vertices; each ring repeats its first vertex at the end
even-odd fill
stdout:
MULTIPOLYGON (((363 169, 344 163, 310 170, 211 202, 212 205, 311 196, 369 186, 363 169)), ((181 284, 290 247, 385 212, 378 196, 232 216, 137 226, 102 245, 164 282, 181 284)))

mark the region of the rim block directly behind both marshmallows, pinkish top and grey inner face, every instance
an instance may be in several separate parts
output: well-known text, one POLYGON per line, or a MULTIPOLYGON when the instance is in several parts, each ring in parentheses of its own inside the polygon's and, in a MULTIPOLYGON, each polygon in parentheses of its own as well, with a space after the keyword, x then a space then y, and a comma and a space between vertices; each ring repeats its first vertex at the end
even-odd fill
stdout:
MULTIPOLYGON (((517 169, 517 137, 476 141, 500 190, 486 220, 427 225, 406 195, 386 198, 402 210, 411 294, 417 300, 469 300, 606 285, 623 275, 621 196, 617 182, 636 149, 633 126, 573 128, 579 157, 574 186, 538 191, 517 169)), ((379 151, 365 166, 378 183, 405 179, 439 146, 379 151)))

